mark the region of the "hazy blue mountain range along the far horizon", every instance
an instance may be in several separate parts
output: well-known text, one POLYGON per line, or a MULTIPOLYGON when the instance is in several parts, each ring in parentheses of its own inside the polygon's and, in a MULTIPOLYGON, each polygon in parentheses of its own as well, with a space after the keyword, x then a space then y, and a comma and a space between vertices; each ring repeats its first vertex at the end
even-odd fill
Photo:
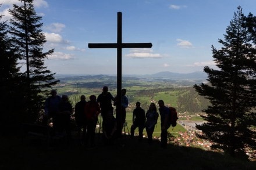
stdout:
MULTIPOLYGON (((116 75, 108 75, 108 74, 98 74, 98 75, 88 75, 88 74, 84 74, 84 75, 79 75, 79 74, 56 74, 56 78, 67 78, 67 77, 91 77, 91 78, 95 78, 95 77, 116 77, 116 75)), ((199 79, 199 80, 205 80, 207 79, 207 74, 202 72, 202 71, 196 71, 193 73, 172 73, 169 71, 162 71, 159 73, 155 73, 155 74, 145 74, 145 75, 123 75, 123 78, 153 78, 153 79, 172 79, 172 80, 189 80, 189 79, 199 79)))

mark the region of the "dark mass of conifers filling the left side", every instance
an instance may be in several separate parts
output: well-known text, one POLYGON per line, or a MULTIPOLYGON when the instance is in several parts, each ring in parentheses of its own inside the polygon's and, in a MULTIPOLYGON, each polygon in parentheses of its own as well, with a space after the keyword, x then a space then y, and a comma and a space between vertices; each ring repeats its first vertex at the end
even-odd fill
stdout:
POLYGON ((46 40, 41 30, 41 17, 36 15, 33 0, 20 1, 23 5, 13 5, 13 9, 9 10, 12 15, 10 27, 1 24, 1 41, 6 42, 1 42, 1 60, 4 61, 1 62, 1 81, 5 81, 1 90, 6 92, 3 121, 16 125, 36 121, 47 88, 59 82, 44 66, 44 60, 54 49, 42 52, 46 40), (20 73, 20 67, 24 66, 26 71, 20 73))

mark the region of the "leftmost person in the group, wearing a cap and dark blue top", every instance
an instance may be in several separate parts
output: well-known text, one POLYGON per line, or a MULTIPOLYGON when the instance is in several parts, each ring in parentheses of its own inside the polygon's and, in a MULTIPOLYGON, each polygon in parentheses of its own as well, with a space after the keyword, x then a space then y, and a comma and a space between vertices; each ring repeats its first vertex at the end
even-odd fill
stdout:
POLYGON ((55 128, 56 125, 56 114, 58 113, 59 102, 61 102, 61 97, 57 95, 55 89, 51 90, 51 96, 49 96, 44 103, 44 117, 42 123, 47 125, 47 121, 52 118, 52 123, 55 128))

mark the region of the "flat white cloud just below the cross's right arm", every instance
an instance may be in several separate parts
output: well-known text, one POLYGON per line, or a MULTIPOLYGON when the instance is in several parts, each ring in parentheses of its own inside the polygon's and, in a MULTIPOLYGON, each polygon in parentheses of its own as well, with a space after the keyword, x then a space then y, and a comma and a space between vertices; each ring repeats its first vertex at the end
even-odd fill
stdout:
POLYGON ((151 49, 131 49, 131 53, 125 55, 126 57, 143 59, 143 58, 161 58, 158 53, 152 53, 151 49))

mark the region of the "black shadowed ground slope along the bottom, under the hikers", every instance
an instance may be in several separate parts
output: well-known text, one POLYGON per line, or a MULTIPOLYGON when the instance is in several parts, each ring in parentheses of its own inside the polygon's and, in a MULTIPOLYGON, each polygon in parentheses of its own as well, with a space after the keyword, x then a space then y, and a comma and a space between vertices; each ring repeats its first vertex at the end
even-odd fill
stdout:
POLYGON ((147 139, 138 142, 128 136, 105 146, 97 135, 97 148, 91 150, 74 138, 70 146, 47 147, 33 138, 22 144, 15 136, 2 136, 0 143, 0 169, 256 169, 256 162, 172 144, 161 149, 158 140, 149 145, 147 139))

